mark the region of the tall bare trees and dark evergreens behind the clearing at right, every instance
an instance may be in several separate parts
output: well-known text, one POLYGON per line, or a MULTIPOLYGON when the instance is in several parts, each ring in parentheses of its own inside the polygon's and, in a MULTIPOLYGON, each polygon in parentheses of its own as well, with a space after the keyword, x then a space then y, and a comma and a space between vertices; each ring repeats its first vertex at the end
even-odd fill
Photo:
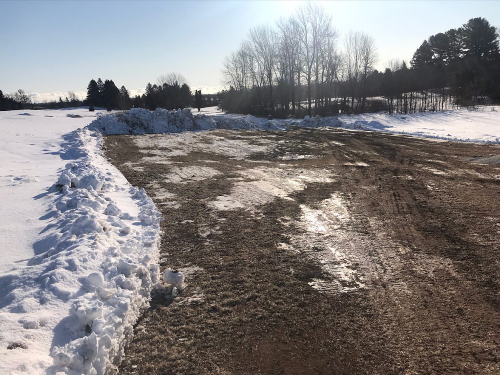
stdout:
POLYGON ((374 39, 350 31, 340 40, 331 16, 307 3, 274 27, 251 28, 225 57, 229 112, 277 116, 443 110, 500 100, 498 32, 484 18, 430 36, 405 61, 374 69, 374 39))

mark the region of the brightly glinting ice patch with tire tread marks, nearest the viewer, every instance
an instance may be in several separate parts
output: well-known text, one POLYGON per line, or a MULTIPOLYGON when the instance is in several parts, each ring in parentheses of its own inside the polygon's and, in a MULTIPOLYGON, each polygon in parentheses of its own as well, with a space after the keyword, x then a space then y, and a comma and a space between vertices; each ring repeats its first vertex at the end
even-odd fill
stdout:
POLYGON ((328 293, 345 293, 364 288, 357 271, 359 259, 346 225, 351 219, 345 201, 338 194, 322 200, 317 207, 300 206, 302 215, 296 222, 303 231, 290 238, 291 245, 321 265, 330 277, 312 279, 313 289, 328 293))

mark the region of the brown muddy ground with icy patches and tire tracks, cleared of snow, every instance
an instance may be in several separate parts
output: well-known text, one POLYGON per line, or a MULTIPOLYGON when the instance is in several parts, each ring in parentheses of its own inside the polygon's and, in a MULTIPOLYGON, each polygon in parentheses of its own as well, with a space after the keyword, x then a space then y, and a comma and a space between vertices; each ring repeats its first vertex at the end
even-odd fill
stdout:
POLYGON ((108 136, 161 210, 122 374, 500 373, 500 146, 345 131, 108 136))

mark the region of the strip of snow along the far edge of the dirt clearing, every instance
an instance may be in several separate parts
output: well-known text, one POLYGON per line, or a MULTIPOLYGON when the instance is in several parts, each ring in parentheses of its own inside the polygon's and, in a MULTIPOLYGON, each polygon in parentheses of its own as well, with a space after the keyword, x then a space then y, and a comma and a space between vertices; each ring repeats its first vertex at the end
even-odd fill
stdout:
POLYGON ((300 127, 341 127, 382 131, 434 139, 500 143, 500 107, 449 110, 412 114, 365 113, 302 119, 272 119, 241 114, 221 114, 215 107, 201 112, 189 109, 149 111, 134 108, 125 113, 100 116, 90 125, 103 134, 175 133, 190 130, 248 129, 288 130, 300 127), (194 113, 194 114, 193 114, 194 113))

